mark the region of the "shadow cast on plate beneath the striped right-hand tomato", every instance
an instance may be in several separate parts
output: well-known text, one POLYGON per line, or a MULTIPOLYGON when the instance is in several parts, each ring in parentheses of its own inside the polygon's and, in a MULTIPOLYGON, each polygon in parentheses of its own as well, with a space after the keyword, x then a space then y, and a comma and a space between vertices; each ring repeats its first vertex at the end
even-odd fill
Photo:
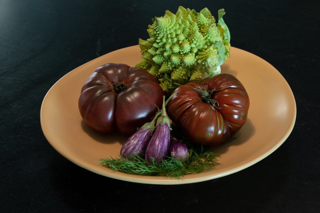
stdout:
POLYGON ((239 132, 235 133, 231 136, 232 141, 227 141, 219 146, 210 148, 211 151, 218 155, 222 155, 226 152, 228 152, 229 147, 231 146, 239 146, 246 141, 248 141, 255 132, 255 128, 252 124, 252 121, 248 118, 244 126, 239 130, 239 132))

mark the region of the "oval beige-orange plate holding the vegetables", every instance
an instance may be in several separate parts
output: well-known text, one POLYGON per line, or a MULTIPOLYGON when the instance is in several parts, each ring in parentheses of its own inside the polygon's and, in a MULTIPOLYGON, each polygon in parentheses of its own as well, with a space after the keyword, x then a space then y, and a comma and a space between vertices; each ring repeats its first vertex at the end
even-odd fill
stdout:
POLYGON ((98 57, 69 72, 45 95, 41 126, 49 143, 71 162, 97 174, 136 183, 187 184, 220 178, 241 171, 275 151, 291 133, 296 119, 296 103, 283 76, 268 62, 241 49, 231 48, 231 58, 222 72, 236 76, 250 97, 247 123, 236 140, 215 148, 220 165, 209 172, 180 179, 129 175, 99 165, 98 159, 118 157, 127 137, 118 133, 101 135, 86 126, 78 111, 81 87, 92 72, 106 63, 134 66, 141 59, 138 45, 98 57))

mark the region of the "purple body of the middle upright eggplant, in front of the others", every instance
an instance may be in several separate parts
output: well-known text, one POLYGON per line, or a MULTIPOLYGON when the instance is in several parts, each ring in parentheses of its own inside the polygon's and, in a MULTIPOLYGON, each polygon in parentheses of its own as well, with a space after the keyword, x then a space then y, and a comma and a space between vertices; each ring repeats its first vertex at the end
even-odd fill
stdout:
POLYGON ((153 133, 145 153, 145 158, 152 163, 151 157, 161 162, 168 155, 170 147, 170 129, 167 123, 158 125, 153 133))

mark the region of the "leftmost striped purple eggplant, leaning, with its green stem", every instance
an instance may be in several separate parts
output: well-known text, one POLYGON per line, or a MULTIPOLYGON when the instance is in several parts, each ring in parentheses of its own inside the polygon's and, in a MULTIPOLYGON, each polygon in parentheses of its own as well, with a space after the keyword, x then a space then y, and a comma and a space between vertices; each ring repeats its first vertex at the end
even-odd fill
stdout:
POLYGON ((137 132, 131 135, 128 140, 124 142, 120 150, 120 155, 122 157, 126 158, 129 155, 142 157, 150 141, 151 134, 155 130, 156 121, 160 114, 161 111, 159 110, 151 122, 141 126, 137 132))

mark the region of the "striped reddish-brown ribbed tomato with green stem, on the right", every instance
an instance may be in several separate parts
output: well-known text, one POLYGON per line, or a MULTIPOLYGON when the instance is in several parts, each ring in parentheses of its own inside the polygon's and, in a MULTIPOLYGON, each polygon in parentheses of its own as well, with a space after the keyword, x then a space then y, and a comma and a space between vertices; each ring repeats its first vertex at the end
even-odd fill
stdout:
POLYGON ((234 76, 221 73, 177 87, 167 105, 169 118, 195 144, 225 142, 245 124, 249 96, 234 76))

